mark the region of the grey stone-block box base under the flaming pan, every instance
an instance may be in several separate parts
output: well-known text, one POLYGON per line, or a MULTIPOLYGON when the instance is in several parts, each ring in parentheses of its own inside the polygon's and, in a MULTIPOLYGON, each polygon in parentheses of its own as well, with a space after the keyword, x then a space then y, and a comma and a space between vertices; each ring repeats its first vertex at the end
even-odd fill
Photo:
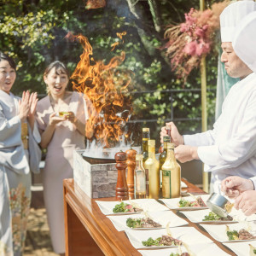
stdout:
POLYGON ((83 159, 84 150, 73 153, 73 179, 75 186, 90 198, 115 196, 118 172, 115 163, 91 165, 83 159))

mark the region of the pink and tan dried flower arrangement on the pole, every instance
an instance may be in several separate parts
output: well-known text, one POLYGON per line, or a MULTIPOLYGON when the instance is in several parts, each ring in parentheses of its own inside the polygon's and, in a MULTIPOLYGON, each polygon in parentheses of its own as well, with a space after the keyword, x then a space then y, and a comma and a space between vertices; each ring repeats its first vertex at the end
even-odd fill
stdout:
POLYGON ((192 69, 199 66, 202 56, 211 51, 219 29, 219 15, 228 4, 225 0, 204 11, 192 8, 185 14, 185 22, 167 28, 164 36, 168 42, 162 49, 166 49, 172 71, 178 78, 186 81, 192 69))

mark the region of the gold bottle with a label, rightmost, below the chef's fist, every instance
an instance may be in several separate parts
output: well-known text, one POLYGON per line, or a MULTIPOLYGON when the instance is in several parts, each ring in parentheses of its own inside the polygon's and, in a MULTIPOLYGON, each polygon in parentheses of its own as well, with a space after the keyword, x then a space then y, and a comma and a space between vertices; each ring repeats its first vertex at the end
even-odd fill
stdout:
POLYGON ((162 166, 162 196, 175 198, 181 196, 181 168, 174 155, 175 145, 167 144, 167 157, 162 166))

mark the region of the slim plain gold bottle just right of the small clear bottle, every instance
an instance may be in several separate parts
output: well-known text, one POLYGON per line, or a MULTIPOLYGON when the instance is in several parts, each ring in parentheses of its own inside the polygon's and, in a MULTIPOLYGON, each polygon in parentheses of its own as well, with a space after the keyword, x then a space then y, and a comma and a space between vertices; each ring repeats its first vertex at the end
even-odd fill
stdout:
POLYGON ((148 196, 159 198, 159 160, 155 158, 155 141, 148 140, 148 159, 144 163, 145 171, 148 170, 148 196))

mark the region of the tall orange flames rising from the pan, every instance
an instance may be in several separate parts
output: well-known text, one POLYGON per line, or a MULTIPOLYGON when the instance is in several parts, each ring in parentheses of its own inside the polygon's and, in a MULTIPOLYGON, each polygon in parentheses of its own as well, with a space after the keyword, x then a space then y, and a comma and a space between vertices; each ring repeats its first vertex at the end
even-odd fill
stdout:
MULTIPOLYGON (((93 50, 83 35, 67 35, 78 39, 84 52, 73 72, 73 90, 83 92, 92 102, 95 113, 90 115, 86 124, 86 136, 94 131, 96 140, 113 146, 125 135, 125 123, 131 115, 131 97, 127 87, 131 82, 128 71, 120 71, 119 64, 125 60, 125 52, 113 57, 107 65, 92 58, 93 50)), ((125 136, 127 137, 127 136, 125 136)))

